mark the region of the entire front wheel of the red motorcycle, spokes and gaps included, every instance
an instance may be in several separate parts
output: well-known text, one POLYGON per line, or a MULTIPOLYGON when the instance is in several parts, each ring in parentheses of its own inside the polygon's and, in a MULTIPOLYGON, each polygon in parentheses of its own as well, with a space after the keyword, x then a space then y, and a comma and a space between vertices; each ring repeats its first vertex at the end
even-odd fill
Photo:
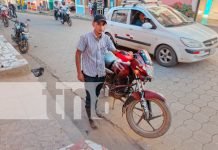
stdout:
POLYGON ((126 118, 134 132, 145 138, 157 138, 165 134, 171 123, 167 105, 156 99, 148 100, 151 111, 144 113, 140 101, 132 101, 127 108, 126 118))

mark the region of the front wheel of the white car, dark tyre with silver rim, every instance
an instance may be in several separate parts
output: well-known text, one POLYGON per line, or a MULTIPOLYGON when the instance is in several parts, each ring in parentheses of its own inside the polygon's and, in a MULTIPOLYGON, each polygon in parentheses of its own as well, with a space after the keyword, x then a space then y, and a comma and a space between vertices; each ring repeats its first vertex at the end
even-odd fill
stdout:
POLYGON ((168 45, 161 45, 156 49, 155 58, 161 66, 173 67, 178 63, 175 51, 168 45))

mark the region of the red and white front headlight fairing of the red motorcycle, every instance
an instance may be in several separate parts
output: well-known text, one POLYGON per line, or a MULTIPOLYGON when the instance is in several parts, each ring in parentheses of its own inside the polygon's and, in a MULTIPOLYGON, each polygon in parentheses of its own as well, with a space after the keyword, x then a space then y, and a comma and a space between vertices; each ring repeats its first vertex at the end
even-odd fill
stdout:
POLYGON ((134 55, 134 60, 131 63, 131 67, 141 80, 152 79, 153 77, 153 65, 151 57, 147 51, 139 50, 134 55))

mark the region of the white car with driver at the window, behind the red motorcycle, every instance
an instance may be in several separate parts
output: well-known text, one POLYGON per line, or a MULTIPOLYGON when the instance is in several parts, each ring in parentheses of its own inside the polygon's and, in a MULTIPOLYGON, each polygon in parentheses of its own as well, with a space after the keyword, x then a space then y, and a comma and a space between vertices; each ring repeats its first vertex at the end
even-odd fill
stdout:
POLYGON ((116 45, 146 49, 166 67, 200 61, 215 53, 218 34, 182 13, 156 3, 113 7, 106 15, 105 33, 116 45), (139 14, 145 21, 136 24, 139 14))

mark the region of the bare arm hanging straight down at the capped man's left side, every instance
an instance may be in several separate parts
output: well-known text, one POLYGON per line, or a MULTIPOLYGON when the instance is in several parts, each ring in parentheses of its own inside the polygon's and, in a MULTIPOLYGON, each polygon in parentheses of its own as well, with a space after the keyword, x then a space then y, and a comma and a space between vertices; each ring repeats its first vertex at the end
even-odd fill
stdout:
POLYGON ((79 81, 84 82, 84 76, 81 70, 81 54, 82 52, 80 50, 76 50, 76 69, 77 69, 77 78, 79 81))

